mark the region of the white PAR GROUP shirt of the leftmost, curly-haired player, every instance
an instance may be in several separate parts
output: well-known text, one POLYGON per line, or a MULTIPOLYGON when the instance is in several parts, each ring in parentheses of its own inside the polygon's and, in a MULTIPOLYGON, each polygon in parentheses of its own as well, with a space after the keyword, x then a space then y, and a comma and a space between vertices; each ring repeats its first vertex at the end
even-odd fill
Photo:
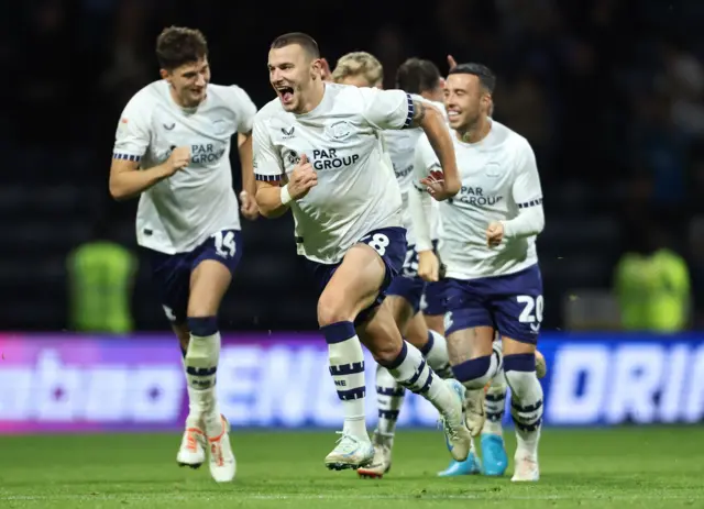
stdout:
POLYGON ((221 230, 239 230, 232 189, 230 142, 252 131, 256 107, 240 87, 208 85, 194 109, 176 104, 164 80, 136 92, 122 112, 114 158, 139 161, 140 168, 168 159, 174 147, 190 146, 189 165, 142 192, 136 239, 144 247, 184 253, 221 230))

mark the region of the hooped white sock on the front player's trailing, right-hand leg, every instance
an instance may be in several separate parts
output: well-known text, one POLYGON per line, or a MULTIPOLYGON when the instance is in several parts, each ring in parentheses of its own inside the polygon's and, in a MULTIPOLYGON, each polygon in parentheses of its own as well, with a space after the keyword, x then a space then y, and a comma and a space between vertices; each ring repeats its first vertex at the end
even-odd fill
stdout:
POLYGON ((386 367, 402 386, 426 398, 440 413, 452 407, 457 395, 430 369, 420 351, 410 343, 404 341, 400 353, 386 367))

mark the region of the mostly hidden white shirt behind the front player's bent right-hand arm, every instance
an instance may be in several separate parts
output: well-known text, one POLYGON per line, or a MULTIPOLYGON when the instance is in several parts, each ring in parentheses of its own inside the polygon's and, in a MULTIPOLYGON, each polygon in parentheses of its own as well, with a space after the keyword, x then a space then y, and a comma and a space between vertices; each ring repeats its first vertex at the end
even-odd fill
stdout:
MULTIPOLYGON (((442 102, 430 101, 428 99, 425 99, 422 96, 418 96, 415 93, 410 97, 416 101, 424 101, 432 104, 435 108, 442 112, 447 122, 448 114, 442 102)), ((408 191, 413 189, 414 178, 416 177, 416 173, 414 171, 414 164, 416 161, 415 151, 416 146, 418 145, 418 140, 421 136, 425 137, 426 133, 420 128, 406 129, 403 131, 386 131, 384 133, 386 148, 388 151, 388 155, 392 158, 392 164, 394 165, 396 180, 398 180, 398 186, 400 187, 404 228, 406 229, 406 240, 409 246, 416 244, 416 235, 414 232, 410 211, 408 210, 408 191)), ((437 201, 433 200, 433 203, 437 204, 437 201)), ((430 218, 430 232, 432 240, 436 240, 439 212, 437 206, 433 206, 430 210, 432 211, 432 217, 430 218)))

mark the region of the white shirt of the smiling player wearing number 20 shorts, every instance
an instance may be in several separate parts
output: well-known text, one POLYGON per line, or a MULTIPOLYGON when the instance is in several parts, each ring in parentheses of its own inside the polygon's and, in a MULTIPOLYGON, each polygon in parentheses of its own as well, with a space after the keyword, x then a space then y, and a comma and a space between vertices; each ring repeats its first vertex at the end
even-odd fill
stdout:
MULTIPOLYGON (((505 237, 497 247, 486 245, 491 221, 516 218, 521 209, 542 207, 536 157, 528 141, 492 121, 488 135, 479 143, 458 140, 452 133, 462 188, 440 202, 439 254, 447 277, 474 279, 513 274, 538 262, 536 236, 505 237)), ((440 168, 430 143, 420 140, 416 151, 417 178, 440 168)), ((421 190, 421 186, 417 186, 421 190)), ((424 190, 424 195, 431 199, 424 190)))

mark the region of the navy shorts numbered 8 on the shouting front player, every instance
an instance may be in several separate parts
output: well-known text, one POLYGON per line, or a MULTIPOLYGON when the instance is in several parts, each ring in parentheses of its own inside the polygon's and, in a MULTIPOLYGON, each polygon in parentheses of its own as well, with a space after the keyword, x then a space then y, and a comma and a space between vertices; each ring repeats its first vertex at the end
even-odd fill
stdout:
MULTIPOLYGON (((386 274, 384 275, 384 281, 378 289, 378 297, 376 301, 369 308, 362 310, 355 320, 355 324, 363 323, 371 312, 377 308, 387 295, 388 287, 392 285, 394 278, 398 276, 404 266, 404 256, 406 254, 406 229, 404 228, 382 228, 374 230, 364 235, 359 241, 370 247, 373 247, 382 257, 384 265, 386 266, 386 274)), ((310 259, 306 261, 312 276, 316 280, 319 295, 326 289, 328 283, 332 278, 332 275, 342 264, 320 264, 310 259)))

